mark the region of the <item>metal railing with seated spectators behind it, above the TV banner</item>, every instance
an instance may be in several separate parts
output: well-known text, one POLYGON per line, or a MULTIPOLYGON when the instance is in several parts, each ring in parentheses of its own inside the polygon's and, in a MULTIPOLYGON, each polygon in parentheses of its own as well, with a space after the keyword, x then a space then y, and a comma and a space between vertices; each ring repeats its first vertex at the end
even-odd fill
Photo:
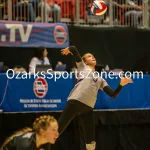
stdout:
POLYGON ((27 22, 64 22, 81 26, 149 28, 150 0, 105 0, 107 12, 94 16, 93 0, 0 0, 0 19, 27 22))

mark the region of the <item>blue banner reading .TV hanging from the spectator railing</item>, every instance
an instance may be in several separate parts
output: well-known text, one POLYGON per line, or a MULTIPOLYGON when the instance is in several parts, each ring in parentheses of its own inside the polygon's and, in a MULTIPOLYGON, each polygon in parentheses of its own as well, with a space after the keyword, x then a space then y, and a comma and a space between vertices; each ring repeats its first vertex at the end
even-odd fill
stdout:
POLYGON ((65 48, 69 34, 63 23, 0 21, 0 46, 65 48))

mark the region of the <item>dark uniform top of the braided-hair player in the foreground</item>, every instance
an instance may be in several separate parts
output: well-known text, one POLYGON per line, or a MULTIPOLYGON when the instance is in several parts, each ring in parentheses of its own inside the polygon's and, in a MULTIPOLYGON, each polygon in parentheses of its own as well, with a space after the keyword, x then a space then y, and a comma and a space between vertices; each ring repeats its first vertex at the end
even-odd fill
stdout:
POLYGON ((51 144, 46 143, 39 148, 36 147, 34 132, 18 134, 11 139, 1 150, 50 150, 51 144))

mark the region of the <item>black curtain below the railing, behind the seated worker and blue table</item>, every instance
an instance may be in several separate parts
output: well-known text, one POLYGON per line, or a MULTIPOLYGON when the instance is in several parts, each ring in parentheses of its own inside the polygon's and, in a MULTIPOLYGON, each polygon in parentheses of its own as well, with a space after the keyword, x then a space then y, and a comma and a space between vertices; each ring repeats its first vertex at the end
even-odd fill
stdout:
MULTIPOLYGON (((75 45, 81 55, 90 52, 98 64, 128 71, 150 70, 150 31, 135 28, 92 28, 69 26, 70 45, 75 45)), ((1 47, 0 61, 10 68, 22 65, 28 70, 34 48, 1 47)), ((71 56, 62 56, 60 49, 48 49, 48 57, 55 68, 57 61, 73 67, 71 56)))

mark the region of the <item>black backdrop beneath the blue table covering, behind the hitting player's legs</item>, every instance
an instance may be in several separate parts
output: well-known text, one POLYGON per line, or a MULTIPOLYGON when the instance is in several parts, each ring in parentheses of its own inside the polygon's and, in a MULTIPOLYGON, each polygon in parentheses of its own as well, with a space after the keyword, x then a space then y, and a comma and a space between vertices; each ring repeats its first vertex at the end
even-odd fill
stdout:
MULTIPOLYGON (((0 114, 0 144, 14 131, 32 127, 40 115, 59 119, 60 113, 0 114), (19 120, 19 122, 18 122, 19 120)), ((150 110, 96 111, 96 150, 148 150, 150 147, 150 110)), ((59 137, 52 150, 86 150, 83 130, 76 117, 59 137)))

